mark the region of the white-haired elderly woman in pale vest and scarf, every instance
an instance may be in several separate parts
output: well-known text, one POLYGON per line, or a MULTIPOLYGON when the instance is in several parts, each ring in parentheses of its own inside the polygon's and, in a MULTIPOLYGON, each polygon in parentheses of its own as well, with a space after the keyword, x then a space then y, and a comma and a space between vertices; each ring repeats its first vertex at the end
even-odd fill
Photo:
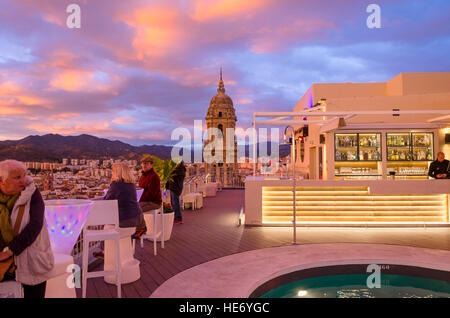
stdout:
POLYGON ((26 172, 19 161, 0 162, 0 261, 14 257, 16 281, 22 284, 25 298, 44 298, 54 257, 44 201, 26 172))

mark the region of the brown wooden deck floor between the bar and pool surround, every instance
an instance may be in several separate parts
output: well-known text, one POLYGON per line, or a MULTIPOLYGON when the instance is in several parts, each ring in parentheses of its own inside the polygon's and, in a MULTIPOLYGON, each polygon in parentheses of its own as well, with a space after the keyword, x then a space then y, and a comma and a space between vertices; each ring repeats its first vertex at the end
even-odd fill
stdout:
MULTIPOLYGON (((136 244, 141 279, 122 285, 122 297, 149 297, 172 276, 223 256, 292 244, 292 228, 238 226, 244 190, 224 189, 216 197, 204 198, 203 204, 200 210, 183 211, 184 224, 174 224, 165 248, 158 244, 158 255, 153 255, 152 242, 145 241, 144 248, 136 244)), ((297 228, 297 244, 346 242, 450 250, 450 228, 297 228)), ((93 270, 102 268, 100 264, 93 270)), ((116 297, 116 290, 102 277, 88 279, 88 298, 116 297)))

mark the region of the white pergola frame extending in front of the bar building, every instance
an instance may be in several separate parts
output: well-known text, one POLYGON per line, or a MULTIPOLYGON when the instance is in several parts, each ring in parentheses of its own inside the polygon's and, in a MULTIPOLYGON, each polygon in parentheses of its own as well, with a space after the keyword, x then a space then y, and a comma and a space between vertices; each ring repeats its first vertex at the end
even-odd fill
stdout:
MULTIPOLYGON (((364 129, 373 127, 373 125, 377 125, 378 128, 447 128, 450 126, 450 121, 448 122, 439 122, 443 120, 450 120, 450 109, 444 110, 368 110, 368 111, 331 111, 331 112, 322 112, 316 111, 320 110, 322 106, 313 107, 305 111, 301 112, 255 112, 253 113, 253 143, 258 144, 257 136, 256 136, 256 127, 257 126, 301 126, 304 125, 329 125, 334 121, 337 121, 337 126, 335 128, 330 127, 330 129, 325 130, 331 131, 334 129, 364 129), (428 119, 426 122, 418 122, 418 123, 367 123, 367 124, 350 124, 344 127, 339 127, 339 122, 341 119, 344 121, 355 116, 399 116, 399 115, 436 115, 437 117, 428 119), (305 118, 306 120, 295 119, 298 117, 305 118), (316 119, 309 120, 309 117, 329 117, 328 119, 316 119), (266 120, 256 120, 257 118, 271 118, 266 120)), ((256 175, 256 146, 253 146, 253 176, 256 175)))

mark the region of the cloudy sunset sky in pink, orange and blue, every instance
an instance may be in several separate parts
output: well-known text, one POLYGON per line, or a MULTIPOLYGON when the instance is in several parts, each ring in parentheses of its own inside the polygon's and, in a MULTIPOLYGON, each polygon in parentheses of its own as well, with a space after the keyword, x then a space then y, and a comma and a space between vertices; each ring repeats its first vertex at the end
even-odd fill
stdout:
POLYGON ((313 83, 450 71, 449 22, 448 0, 0 0, 0 140, 173 144, 204 120, 221 66, 246 129, 313 83), (380 29, 366 25, 371 3, 380 29))

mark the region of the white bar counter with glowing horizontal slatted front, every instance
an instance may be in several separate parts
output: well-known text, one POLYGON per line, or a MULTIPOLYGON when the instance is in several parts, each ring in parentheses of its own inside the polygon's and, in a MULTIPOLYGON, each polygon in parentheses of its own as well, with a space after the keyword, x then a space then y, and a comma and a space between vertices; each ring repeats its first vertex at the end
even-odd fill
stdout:
MULTIPOLYGON (((247 177, 245 224, 292 226, 293 180, 247 177)), ((448 224, 450 179, 297 180, 297 224, 448 224)))

